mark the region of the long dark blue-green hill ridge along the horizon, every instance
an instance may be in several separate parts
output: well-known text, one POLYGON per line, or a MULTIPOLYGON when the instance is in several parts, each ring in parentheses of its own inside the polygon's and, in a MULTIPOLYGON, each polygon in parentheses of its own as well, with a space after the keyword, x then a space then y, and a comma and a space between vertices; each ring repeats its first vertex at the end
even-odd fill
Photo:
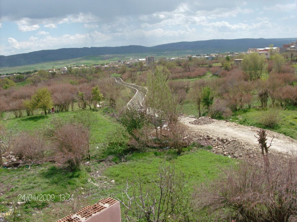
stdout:
POLYGON ((248 48, 264 48, 269 44, 282 47, 283 44, 296 41, 297 38, 240 38, 240 39, 212 39, 193 42, 176 42, 152 47, 145 46, 117 46, 117 47, 84 47, 41 50, 10 56, 0 56, 0 67, 30 65, 41 62, 51 62, 74 59, 85 56, 132 54, 132 53, 159 53, 173 51, 188 51, 192 54, 245 52, 248 48))

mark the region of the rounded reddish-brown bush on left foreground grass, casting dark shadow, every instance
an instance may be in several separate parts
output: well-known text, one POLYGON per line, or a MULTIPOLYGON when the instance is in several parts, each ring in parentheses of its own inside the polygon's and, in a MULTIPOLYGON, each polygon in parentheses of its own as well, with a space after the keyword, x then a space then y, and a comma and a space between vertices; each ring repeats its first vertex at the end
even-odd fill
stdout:
POLYGON ((71 170, 79 169, 89 151, 89 130, 82 125, 68 123, 57 129, 52 139, 58 161, 69 165, 71 170))

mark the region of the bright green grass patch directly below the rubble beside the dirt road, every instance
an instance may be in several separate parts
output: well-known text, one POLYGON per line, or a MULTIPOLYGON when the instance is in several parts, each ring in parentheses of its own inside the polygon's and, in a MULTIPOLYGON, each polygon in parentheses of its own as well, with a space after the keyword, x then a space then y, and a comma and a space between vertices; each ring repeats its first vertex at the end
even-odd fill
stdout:
POLYGON ((108 168, 105 175, 114 179, 119 186, 123 186, 126 179, 132 181, 134 175, 140 174, 142 178, 147 178, 148 174, 157 173, 158 166, 163 161, 175 163, 176 169, 190 175, 190 186, 197 184, 196 182, 203 182, 206 178, 214 179, 218 175, 219 166, 227 166, 233 162, 228 157, 215 155, 206 150, 189 151, 181 156, 175 155, 172 150, 168 152, 134 153, 128 157, 127 163, 120 163, 108 168))

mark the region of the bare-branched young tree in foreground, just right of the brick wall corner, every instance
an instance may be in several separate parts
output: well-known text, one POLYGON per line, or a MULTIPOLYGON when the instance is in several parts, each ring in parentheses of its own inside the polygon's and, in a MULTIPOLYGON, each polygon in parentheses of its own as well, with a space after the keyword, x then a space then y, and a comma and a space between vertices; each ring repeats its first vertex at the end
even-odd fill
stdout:
POLYGON ((124 206, 127 221, 191 221, 188 180, 174 165, 164 162, 157 175, 148 175, 145 181, 135 176, 132 184, 127 181, 126 187, 112 197, 124 206))

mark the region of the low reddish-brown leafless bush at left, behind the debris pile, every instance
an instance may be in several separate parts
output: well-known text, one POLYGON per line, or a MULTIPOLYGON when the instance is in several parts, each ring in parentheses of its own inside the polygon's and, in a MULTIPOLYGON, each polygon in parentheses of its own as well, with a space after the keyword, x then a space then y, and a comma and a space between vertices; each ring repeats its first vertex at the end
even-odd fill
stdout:
POLYGON ((45 140, 37 133, 30 135, 29 133, 21 133, 12 141, 13 150, 20 160, 23 162, 31 162, 33 160, 42 160, 47 150, 45 140))

